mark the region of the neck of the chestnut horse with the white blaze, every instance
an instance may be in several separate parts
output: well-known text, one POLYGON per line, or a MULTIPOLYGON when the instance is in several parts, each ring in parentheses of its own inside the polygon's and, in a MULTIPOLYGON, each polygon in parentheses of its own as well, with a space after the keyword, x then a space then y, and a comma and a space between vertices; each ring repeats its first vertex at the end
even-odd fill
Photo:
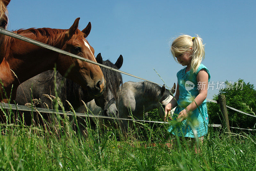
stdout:
MULTIPOLYGON (((21 35, 36 41, 43 41, 44 39, 43 37, 35 38, 33 33, 23 33, 21 35)), ((59 41, 54 46, 60 48, 62 44, 63 41, 59 41)), ((41 72, 52 70, 54 63, 57 62, 58 56, 59 54, 52 50, 15 39, 6 61, 10 69, 18 76, 19 81, 23 82, 41 72)))

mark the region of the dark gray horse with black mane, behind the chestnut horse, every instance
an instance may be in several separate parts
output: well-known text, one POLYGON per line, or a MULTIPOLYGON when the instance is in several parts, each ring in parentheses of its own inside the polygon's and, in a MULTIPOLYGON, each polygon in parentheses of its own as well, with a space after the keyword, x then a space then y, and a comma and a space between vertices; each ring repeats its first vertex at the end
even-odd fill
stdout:
MULTIPOLYGON (((122 55, 119 56, 115 64, 111 63, 109 60, 103 61, 100 53, 97 55, 96 60, 98 63, 115 69, 120 69, 123 64, 122 55)), ((37 99, 36 102, 39 101, 40 104, 36 105, 35 100, 32 101, 36 107, 54 108, 52 101, 44 95, 48 94, 53 96, 58 95, 66 110, 69 108, 67 101, 69 101, 72 107, 76 110, 83 105, 81 100, 86 103, 92 99, 95 99, 96 104, 103 110, 110 99, 117 98, 119 87, 123 83, 123 79, 121 74, 116 71, 112 71, 104 67, 100 67, 100 69, 102 70, 107 82, 106 89, 100 97, 89 96, 87 91, 84 90, 80 85, 77 85, 69 79, 63 78, 58 72, 56 75, 55 87, 53 77, 54 71, 45 71, 19 85, 15 102, 19 105, 25 105, 26 103, 31 103, 31 99, 37 99), (55 88, 57 94, 55 93, 55 88)), ((108 110, 105 109, 104 115, 116 116, 118 115, 117 112, 118 111, 116 108, 111 108, 108 110)), ((47 119, 52 120, 51 117, 52 115, 50 115, 50 118, 47 119)), ((25 122, 26 124, 30 124, 31 117, 26 116, 25 122)))

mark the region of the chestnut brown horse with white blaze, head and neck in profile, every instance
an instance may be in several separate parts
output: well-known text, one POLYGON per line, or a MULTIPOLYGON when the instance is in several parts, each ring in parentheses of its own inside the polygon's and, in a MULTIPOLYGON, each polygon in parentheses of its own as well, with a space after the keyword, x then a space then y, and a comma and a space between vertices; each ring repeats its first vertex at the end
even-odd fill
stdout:
MULTIPOLYGON (((79 19, 69 29, 30 28, 14 32, 96 62, 94 49, 85 39, 91 31, 91 23, 80 31, 77 28, 79 19)), ((11 101, 15 99, 20 83, 52 70, 55 64, 62 76, 81 85, 88 94, 100 96, 105 90, 106 81, 98 65, 7 36, 4 53, 4 60, 0 64, 0 81, 3 84, 0 101, 8 102, 10 96, 11 101)))

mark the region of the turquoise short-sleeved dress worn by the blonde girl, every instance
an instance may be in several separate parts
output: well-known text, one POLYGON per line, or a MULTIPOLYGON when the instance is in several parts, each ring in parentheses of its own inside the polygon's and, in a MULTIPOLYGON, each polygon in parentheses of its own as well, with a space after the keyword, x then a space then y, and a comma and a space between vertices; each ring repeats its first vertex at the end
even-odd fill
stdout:
POLYGON ((177 122, 177 117, 184 108, 186 108, 199 94, 197 85, 205 85, 207 83, 197 83, 196 76, 200 70, 204 69, 208 73, 208 82, 210 81, 210 72, 201 63, 195 73, 188 71, 185 73, 186 68, 180 70, 177 73, 180 96, 177 101, 178 106, 176 107, 172 116, 171 126, 168 131, 179 137, 202 137, 207 134, 208 131, 208 113, 206 100, 198 106, 193 112, 190 113, 189 117, 182 121, 177 122), (193 128, 193 129, 192 129, 193 128))

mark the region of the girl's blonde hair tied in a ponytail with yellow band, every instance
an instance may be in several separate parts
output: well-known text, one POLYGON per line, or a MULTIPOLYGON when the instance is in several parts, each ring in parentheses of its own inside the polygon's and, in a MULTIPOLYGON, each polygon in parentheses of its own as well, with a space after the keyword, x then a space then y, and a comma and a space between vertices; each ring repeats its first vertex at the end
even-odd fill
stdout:
POLYGON ((203 40, 198 37, 191 37, 189 35, 180 35, 173 42, 170 48, 172 56, 176 62, 175 54, 184 54, 185 52, 191 52, 191 64, 190 68, 194 72, 198 69, 202 60, 204 60, 204 44, 203 40), (191 49, 192 48, 192 49, 191 49))

